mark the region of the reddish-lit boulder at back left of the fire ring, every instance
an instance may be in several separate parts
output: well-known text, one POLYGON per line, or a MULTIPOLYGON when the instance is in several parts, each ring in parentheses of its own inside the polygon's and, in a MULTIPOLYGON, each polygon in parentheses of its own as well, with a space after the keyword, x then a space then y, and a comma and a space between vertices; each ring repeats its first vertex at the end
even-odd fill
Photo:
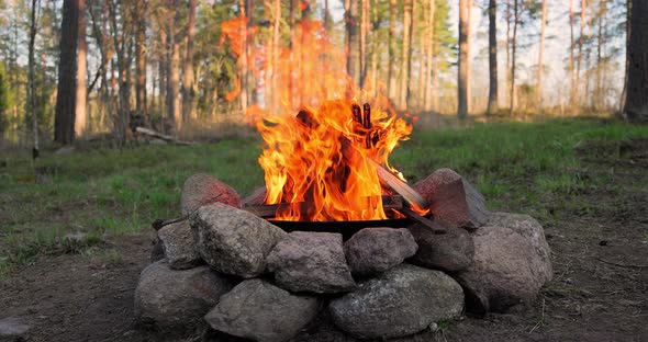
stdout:
POLYGON ((238 193, 209 174, 197 173, 185 181, 180 198, 182 215, 189 215, 205 204, 216 202, 241 207, 238 193))

